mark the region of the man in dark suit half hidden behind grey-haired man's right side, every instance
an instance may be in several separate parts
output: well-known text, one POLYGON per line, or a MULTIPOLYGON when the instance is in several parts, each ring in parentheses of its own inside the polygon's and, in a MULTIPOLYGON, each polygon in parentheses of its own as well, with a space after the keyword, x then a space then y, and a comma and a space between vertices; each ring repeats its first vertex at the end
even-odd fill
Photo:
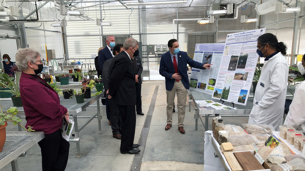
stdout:
POLYGON ((141 100, 141 84, 142 84, 142 78, 141 74, 143 71, 142 62, 140 56, 136 56, 134 59, 131 59, 132 64, 135 67, 135 91, 137 94, 137 104, 136 106, 136 112, 138 115, 144 115, 142 112, 142 100, 141 100))

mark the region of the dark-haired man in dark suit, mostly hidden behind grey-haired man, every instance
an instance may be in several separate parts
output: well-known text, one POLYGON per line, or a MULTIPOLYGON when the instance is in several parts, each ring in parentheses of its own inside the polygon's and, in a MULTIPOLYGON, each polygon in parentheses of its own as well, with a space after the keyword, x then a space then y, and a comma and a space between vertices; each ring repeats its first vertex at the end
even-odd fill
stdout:
MULTIPOLYGON (((116 44, 113 47, 112 53, 114 55, 114 57, 116 55, 118 55, 121 51, 123 50, 123 44, 116 44)), ((121 119, 119 117, 119 111, 118 111, 118 106, 117 104, 113 103, 112 99, 108 99, 108 83, 109 83, 109 66, 111 61, 113 60, 109 59, 106 60, 103 66, 103 83, 104 83, 104 87, 105 87, 105 92, 106 92, 106 108, 108 108, 108 110, 110 111, 110 123, 111 123, 111 129, 112 129, 112 137, 116 138, 116 139, 121 139, 122 135, 121 135, 121 131, 122 131, 122 126, 121 126, 121 119)), ((106 109, 107 111, 107 109, 106 109)))

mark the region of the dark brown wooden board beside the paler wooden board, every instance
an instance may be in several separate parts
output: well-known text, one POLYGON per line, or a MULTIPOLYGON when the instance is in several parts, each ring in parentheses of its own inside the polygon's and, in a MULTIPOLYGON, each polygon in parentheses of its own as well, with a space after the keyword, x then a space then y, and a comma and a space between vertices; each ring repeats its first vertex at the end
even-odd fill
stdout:
POLYGON ((233 153, 243 170, 265 169, 250 151, 233 153))

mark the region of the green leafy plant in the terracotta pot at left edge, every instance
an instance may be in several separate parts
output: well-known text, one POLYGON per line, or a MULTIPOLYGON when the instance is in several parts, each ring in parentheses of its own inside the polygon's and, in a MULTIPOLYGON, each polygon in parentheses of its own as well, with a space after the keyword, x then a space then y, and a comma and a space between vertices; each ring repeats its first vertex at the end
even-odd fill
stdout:
MULTIPOLYGON (((22 128, 24 128, 24 126, 22 126, 19 122, 21 122, 21 119, 19 117, 16 117, 17 113, 19 112, 17 110, 16 107, 11 107, 10 109, 8 109, 5 113, 2 112, 2 105, 1 106, 1 112, 0 112, 0 125, 4 125, 5 122, 10 121, 13 123, 13 125, 20 125, 22 128)), ((33 127, 28 126, 28 129, 24 128, 24 130, 31 132, 31 131, 35 131, 32 130, 33 127)))

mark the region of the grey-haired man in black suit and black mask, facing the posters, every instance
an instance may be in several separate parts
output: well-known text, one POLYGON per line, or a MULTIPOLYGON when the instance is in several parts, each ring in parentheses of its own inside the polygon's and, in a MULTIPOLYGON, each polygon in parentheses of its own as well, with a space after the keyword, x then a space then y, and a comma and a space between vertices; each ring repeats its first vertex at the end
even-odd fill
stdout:
POLYGON ((135 139, 135 68, 131 58, 139 54, 139 42, 133 38, 125 40, 123 51, 119 53, 110 64, 110 78, 108 98, 113 98, 118 105, 122 118, 122 139, 120 151, 122 154, 137 154, 140 152, 135 139))

